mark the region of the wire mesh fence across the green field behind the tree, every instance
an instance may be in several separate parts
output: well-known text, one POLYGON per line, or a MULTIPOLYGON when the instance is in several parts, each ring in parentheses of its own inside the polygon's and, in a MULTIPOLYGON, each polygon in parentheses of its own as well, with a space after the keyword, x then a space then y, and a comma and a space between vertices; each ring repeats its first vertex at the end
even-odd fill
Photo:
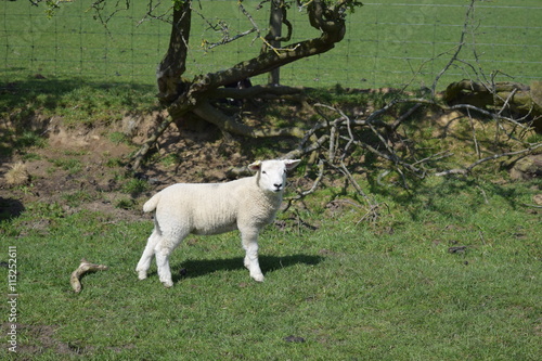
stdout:
MULTIPOLYGON (((4 83, 36 78, 154 85, 155 68, 169 42, 170 25, 142 21, 147 1, 118 12, 104 27, 89 11, 91 1, 65 1, 48 17, 29 1, 1 1, 1 78, 4 83)), ((120 2, 122 3, 122 2, 120 2)), ((269 17, 256 12, 259 1, 244 1, 264 29, 269 17)), ((529 83, 542 79, 542 3, 539 0, 383 0, 364 2, 347 16, 347 34, 327 53, 281 68, 281 83, 350 88, 430 86, 457 51, 453 66, 441 78, 494 78, 529 83), (470 11, 469 11, 470 9, 470 11), (469 14, 467 16, 467 14, 469 14)), ((315 37, 307 16, 291 9, 292 42, 315 37)), ((205 50, 203 40, 220 39, 224 24, 230 35, 249 22, 237 1, 201 0, 195 8, 185 76, 216 72, 257 55, 255 34, 227 46, 205 50)), ((266 31, 262 30, 261 35, 266 31)), ((253 82, 266 82, 264 76, 253 82)))

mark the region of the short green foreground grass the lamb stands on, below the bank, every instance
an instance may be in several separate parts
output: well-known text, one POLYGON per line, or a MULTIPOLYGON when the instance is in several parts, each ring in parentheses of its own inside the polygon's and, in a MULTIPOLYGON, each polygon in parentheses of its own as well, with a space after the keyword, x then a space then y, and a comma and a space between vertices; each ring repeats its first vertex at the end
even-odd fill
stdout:
POLYGON ((356 225, 354 207, 301 210, 315 230, 281 215, 288 227, 261 235, 263 284, 243 268, 235 232, 189 236, 172 255, 170 289, 155 266, 145 281, 133 271, 151 220, 30 205, 0 233, 2 260, 17 246, 20 357, 537 360, 542 229, 522 205, 535 183, 422 185, 376 192, 390 211, 372 225, 356 225), (459 245, 466 250, 449 252, 459 245), (109 269, 74 294, 68 279, 82 257, 109 269))

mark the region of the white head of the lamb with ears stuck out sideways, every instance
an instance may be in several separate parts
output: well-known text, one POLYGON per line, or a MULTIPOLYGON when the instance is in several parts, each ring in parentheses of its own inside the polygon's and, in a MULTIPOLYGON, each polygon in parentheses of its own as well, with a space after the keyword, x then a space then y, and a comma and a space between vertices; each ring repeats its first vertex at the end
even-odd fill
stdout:
POLYGON ((258 185, 266 192, 282 193, 286 185, 286 171, 294 169, 299 159, 257 160, 248 169, 257 171, 258 185))

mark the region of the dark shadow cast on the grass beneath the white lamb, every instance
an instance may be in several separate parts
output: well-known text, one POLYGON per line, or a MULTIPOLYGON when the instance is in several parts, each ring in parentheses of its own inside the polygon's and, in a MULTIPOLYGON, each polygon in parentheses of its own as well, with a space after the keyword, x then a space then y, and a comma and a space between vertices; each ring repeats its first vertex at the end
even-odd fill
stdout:
MULTIPOLYGON (((292 267, 294 265, 310 265, 320 263, 323 257, 311 255, 292 255, 292 256, 260 256, 260 268, 263 274, 275 270, 292 267)), ((177 283, 181 279, 198 278, 218 271, 234 271, 245 269, 243 257, 225 258, 225 259, 188 259, 181 263, 171 265, 171 273, 173 282, 177 283)), ((248 271, 247 271, 248 272, 248 271)))

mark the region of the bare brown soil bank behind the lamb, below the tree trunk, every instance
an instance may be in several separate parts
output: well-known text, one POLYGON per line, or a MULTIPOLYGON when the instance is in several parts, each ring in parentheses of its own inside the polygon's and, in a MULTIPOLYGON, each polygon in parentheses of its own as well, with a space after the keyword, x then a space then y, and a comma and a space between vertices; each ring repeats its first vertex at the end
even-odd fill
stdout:
MULTIPOLYGON (((16 217, 34 202, 57 204, 67 212, 81 208, 115 219, 141 217, 141 203, 176 182, 219 182, 228 169, 248 164, 234 141, 225 142, 216 129, 196 132, 172 125, 162 138, 154 162, 141 172, 129 169, 129 157, 146 139, 160 114, 127 115, 116 128, 66 129, 62 119, 39 119, 46 146, 31 146, 0 157, 1 218, 16 217), (114 134, 114 137, 112 136, 114 134), (126 137, 125 141, 118 138, 126 137), (23 180, 7 177, 23 165, 23 180), (130 186, 140 180, 143 190, 130 186), (13 181, 11 181, 13 182, 13 181)), ((21 177, 21 176, 20 176, 21 177)))

